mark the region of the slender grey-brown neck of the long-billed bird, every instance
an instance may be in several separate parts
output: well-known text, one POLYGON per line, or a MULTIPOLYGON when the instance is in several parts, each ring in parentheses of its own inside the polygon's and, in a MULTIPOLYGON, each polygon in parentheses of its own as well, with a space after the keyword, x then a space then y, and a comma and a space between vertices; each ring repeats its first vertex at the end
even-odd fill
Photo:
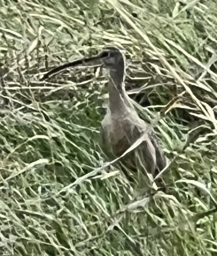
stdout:
POLYGON ((110 71, 109 74, 109 109, 112 113, 123 113, 129 105, 124 85, 124 71, 110 71))

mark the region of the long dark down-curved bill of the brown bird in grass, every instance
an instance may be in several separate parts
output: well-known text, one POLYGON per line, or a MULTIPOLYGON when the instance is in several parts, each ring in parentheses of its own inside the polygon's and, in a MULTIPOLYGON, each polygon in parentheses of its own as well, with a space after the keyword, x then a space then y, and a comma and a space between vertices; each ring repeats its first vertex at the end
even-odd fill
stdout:
POLYGON ((103 65, 102 59, 99 58, 98 56, 91 57, 91 58, 82 58, 80 60, 68 62, 61 66, 53 68, 52 70, 50 70, 46 74, 44 74, 44 76, 40 79, 40 81, 43 81, 43 80, 47 79, 48 77, 52 76, 52 74, 59 73, 60 71, 65 70, 66 68, 76 67, 76 66, 99 67, 102 65, 103 65))

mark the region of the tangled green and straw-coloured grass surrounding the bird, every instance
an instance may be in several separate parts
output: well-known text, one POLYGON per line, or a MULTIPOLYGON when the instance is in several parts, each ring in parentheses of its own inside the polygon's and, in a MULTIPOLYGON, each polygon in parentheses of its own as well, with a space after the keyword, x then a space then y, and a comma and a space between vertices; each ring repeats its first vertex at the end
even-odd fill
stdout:
POLYGON ((217 255, 216 27, 215 0, 0 0, 0 255, 217 255), (140 116, 163 113, 167 191, 142 201, 104 170, 107 73, 40 82, 105 45, 140 116))

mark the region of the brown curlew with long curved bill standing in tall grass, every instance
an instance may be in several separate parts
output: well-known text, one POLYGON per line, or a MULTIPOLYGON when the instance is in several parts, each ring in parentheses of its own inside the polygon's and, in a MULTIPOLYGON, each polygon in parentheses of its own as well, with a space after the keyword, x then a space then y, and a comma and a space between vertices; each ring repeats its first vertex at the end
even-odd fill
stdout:
POLYGON ((144 133, 146 139, 133 151, 126 154, 121 162, 129 169, 142 169, 145 174, 156 175, 166 166, 166 158, 159 146, 157 137, 148 129, 125 90, 126 58, 116 46, 105 47, 100 54, 90 58, 65 63, 44 74, 41 81, 54 73, 74 66, 94 66, 106 68, 109 74, 107 113, 101 122, 103 145, 106 145, 115 157, 120 157, 144 133))

